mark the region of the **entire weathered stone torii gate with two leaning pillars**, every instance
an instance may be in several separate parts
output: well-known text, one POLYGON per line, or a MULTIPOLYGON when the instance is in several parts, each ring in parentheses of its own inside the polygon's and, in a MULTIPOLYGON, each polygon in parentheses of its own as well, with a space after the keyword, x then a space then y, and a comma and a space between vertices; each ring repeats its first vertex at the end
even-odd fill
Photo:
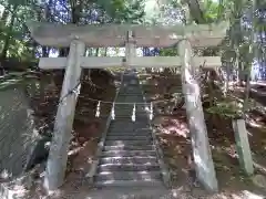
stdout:
POLYGON ((216 191, 217 180, 212 160, 206 125, 201 102, 200 86, 193 74, 200 65, 218 67, 218 56, 193 56, 192 48, 218 45, 225 36, 227 23, 204 25, 83 25, 30 22, 32 38, 41 45, 68 48, 68 57, 41 57, 43 70, 65 69, 61 103, 54 123, 53 139, 48 158, 44 186, 48 190, 59 188, 64 180, 69 143, 80 91, 82 69, 112 66, 181 67, 182 90, 185 95, 187 121, 192 137, 195 170, 206 189, 216 191), (136 56, 137 46, 166 48, 177 44, 180 56, 136 56), (125 46, 125 57, 85 57, 85 48, 125 46), (76 85, 79 85, 76 87, 76 85), (69 91, 74 90, 69 94, 69 91), (69 94, 69 95, 68 95, 69 94))

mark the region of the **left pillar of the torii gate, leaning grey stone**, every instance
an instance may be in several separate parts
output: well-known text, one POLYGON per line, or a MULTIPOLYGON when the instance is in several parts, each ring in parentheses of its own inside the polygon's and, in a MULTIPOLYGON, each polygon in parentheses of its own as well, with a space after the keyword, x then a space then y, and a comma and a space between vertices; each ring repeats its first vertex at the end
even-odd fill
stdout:
POLYGON ((79 40, 71 42, 44 176, 44 188, 48 191, 58 189, 64 181, 75 105, 80 92, 81 57, 84 52, 84 43, 79 40))

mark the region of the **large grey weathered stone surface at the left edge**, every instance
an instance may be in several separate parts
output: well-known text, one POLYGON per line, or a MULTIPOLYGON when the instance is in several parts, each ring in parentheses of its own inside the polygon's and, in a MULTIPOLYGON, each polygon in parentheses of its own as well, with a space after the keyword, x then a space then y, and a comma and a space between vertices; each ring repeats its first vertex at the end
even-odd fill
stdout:
POLYGON ((16 177, 23 171, 34 142, 32 111, 20 85, 0 90, 0 172, 16 177))

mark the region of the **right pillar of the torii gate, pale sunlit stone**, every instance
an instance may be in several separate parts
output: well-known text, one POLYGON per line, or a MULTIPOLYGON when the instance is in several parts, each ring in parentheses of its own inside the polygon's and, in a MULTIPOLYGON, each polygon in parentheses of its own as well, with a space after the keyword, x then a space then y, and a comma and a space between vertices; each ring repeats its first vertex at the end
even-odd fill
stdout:
POLYGON ((182 59, 182 91, 185 95, 185 107, 191 132, 191 142, 195 171, 198 181, 208 191, 217 191, 218 185, 215 175, 207 128, 201 101, 201 88, 194 78, 192 62, 193 50, 188 40, 178 42, 178 54, 182 59))

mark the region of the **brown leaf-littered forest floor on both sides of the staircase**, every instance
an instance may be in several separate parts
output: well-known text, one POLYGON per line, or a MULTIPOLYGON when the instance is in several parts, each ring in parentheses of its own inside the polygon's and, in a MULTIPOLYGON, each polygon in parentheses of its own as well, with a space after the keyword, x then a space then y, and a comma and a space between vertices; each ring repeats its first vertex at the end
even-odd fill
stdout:
MULTIPOLYGON (((180 76, 165 75, 151 75, 141 76, 145 81, 142 84, 145 97, 147 101, 166 100, 173 95, 176 87, 181 86, 180 76), (153 78, 151 78, 153 76, 153 78), (167 87, 167 92, 165 92, 167 87)), ((101 81, 99 80, 99 83, 101 81)), ((110 86, 113 91, 113 87, 110 86)), ((109 91, 109 87, 106 87, 109 91)), ((236 90, 239 96, 242 88, 236 90)), ((81 92, 82 94, 82 92, 81 92)), ((114 95, 113 92, 104 94, 103 101, 109 101, 114 95)), ((90 97, 96 97, 91 95, 90 97)), ((108 114, 110 107, 102 107, 105 109, 104 115, 108 114)), ((96 112, 96 104, 90 107, 91 113, 96 112)), ((192 184, 193 176, 190 175, 191 165, 187 157, 191 155, 191 140, 190 130, 186 123, 186 112, 184 108, 175 108, 173 102, 162 102, 154 105, 155 117, 153 126, 156 129, 156 135, 160 139, 161 147, 164 151, 164 158, 170 166, 171 175, 173 178, 173 188, 165 192, 165 190, 146 190, 153 192, 157 197, 147 198, 184 198, 184 199, 264 199, 266 190, 253 182, 253 178, 245 177, 241 171, 236 149, 234 133, 232 129, 231 121, 216 118, 217 121, 209 121, 205 114, 205 121, 208 128, 208 137, 212 148, 212 155, 215 164, 216 176, 219 186, 219 192, 208 195, 203 188, 192 184)), ((249 118, 253 123, 247 125, 249 132, 249 143, 253 150, 254 161, 257 164, 256 175, 266 175, 266 116, 257 112, 249 113, 249 118), (250 125, 252 124, 252 125, 250 125), (257 169, 258 166, 260 170, 257 169), (264 171, 264 172, 263 172, 264 171)), ((95 190, 83 181, 82 176, 90 168, 93 156, 96 150, 96 144, 100 138, 101 132, 105 127, 106 117, 95 118, 94 114, 86 117, 89 124, 75 123, 75 142, 72 142, 71 151, 73 155, 69 158, 69 170, 66 174, 65 184, 61 187, 60 191, 45 196, 41 186, 37 186, 31 191, 29 198, 32 199, 100 199, 112 198, 116 191, 115 199, 139 198, 134 193, 129 196, 125 190, 117 195, 117 190, 95 190), (123 193, 124 192, 124 193, 123 193)), ((136 118, 137 119, 137 118, 136 118)), ((258 185, 266 186, 266 182, 258 181, 258 185)), ((39 184, 40 185, 40 184, 39 184)), ((135 191, 140 192, 140 191, 135 191)), ((144 190, 145 192, 145 190, 144 190)), ((145 197, 140 197, 145 198, 145 197)), ((24 197, 25 199, 25 197, 24 197)))

